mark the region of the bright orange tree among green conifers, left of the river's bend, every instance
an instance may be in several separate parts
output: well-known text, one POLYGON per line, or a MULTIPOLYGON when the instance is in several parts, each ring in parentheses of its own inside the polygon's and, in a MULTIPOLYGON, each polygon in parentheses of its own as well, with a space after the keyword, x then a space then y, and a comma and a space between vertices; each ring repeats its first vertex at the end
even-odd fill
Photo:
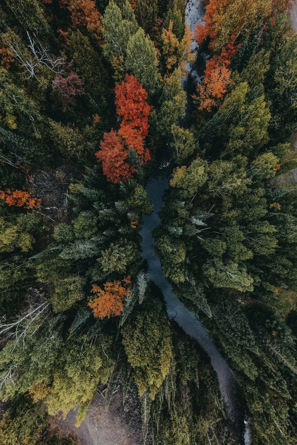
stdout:
POLYGON ((118 316, 123 310, 123 299, 130 295, 127 286, 131 283, 130 276, 124 278, 122 283, 114 280, 104 283, 104 290, 93 284, 92 291, 95 296, 90 297, 89 306, 93 309, 94 317, 104 318, 118 316))

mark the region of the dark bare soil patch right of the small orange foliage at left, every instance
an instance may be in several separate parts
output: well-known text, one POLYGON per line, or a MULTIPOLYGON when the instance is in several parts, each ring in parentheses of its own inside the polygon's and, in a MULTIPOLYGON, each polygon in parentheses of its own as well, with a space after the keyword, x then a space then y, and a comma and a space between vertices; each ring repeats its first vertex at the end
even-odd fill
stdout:
POLYGON ((57 170, 37 170, 33 174, 32 195, 42 200, 40 208, 45 223, 57 225, 65 221, 69 206, 68 186, 79 178, 81 171, 73 166, 61 166, 57 170))

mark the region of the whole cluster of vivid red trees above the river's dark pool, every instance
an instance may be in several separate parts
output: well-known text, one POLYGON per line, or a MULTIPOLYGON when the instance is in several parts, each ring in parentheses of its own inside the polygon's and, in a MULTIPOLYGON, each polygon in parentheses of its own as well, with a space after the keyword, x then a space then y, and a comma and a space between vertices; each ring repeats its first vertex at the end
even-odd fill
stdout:
POLYGON ((148 134, 148 116, 152 107, 146 101, 146 90, 136 77, 129 74, 122 84, 116 84, 115 96, 116 110, 122 117, 120 129, 118 134, 114 130, 104 134, 96 157, 102 161, 108 181, 118 183, 126 182, 137 171, 126 162, 130 147, 137 153, 140 165, 151 159, 149 150, 144 148, 144 138, 148 134))

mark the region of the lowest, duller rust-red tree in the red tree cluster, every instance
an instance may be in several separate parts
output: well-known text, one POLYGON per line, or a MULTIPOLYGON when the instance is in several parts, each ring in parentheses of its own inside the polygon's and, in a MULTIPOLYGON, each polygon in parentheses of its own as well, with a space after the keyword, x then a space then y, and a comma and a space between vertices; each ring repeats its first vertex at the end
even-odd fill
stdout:
POLYGON ((126 182, 127 179, 132 178, 132 174, 136 171, 134 167, 131 167, 126 162, 128 150, 126 150, 122 139, 113 129, 110 133, 104 134, 96 157, 98 161, 102 161, 103 173, 106 175, 107 180, 115 184, 126 182))

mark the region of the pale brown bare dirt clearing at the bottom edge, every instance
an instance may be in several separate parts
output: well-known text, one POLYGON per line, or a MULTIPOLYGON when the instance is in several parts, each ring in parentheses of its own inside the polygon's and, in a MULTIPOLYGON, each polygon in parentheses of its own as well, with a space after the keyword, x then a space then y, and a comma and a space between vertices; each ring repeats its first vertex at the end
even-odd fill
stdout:
MULTIPOLYGON (((81 445, 143 445, 141 411, 137 389, 132 388, 122 404, 122 390, 113 397, 108 411, 103 396, 96 394, 85 420, 77 428, 76 412, 71 410, 65 420, 59 414, 50 416, 51 433, 59 437, 77 438, 81 445)), ((148 444, 149 441, 146 441, 148 444)))

